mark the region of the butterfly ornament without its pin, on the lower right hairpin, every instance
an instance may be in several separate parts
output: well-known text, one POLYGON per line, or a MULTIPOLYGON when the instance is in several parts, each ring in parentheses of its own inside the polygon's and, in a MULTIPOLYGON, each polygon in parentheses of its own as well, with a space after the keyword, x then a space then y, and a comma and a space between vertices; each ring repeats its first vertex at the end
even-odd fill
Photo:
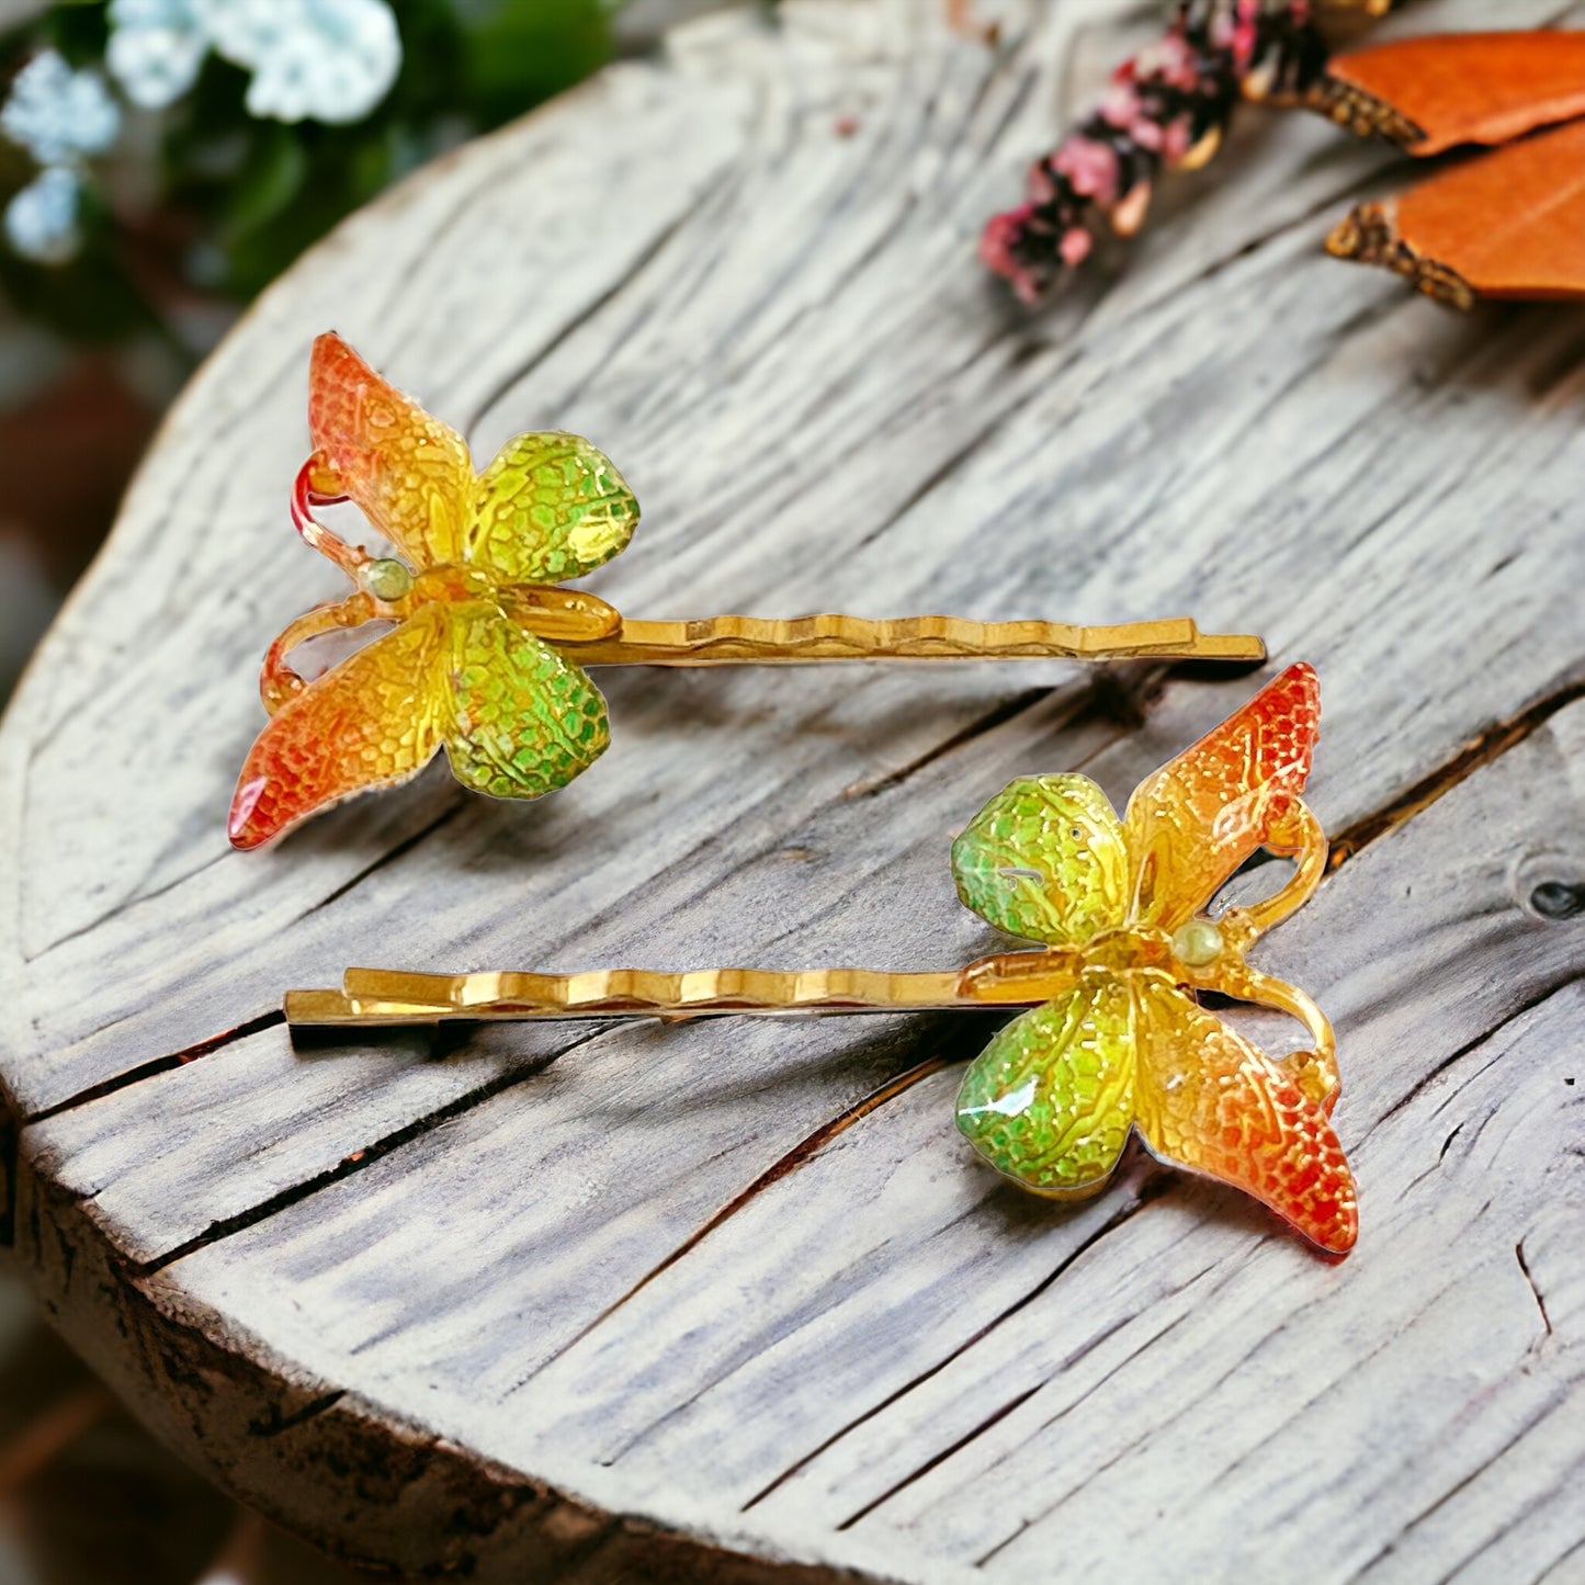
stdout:
POLYGON ((1138 1130, 1155 1155, 1236 1184, 1322 1249, 1354 1246, 1331 1030, 1303 992, 1244 962, 1325 867, 1300 800, 1317 723, 1316 674, 1295 666, 1141 783, 1122 819, 1087 777, 1032 777, 957 838, 962 900, 1071 965, 964 1079, 957 1124, 999 1171, 1037 1194, 1090 1195, 1138 1130), (1292 881, 1208 918, 1257 848, 1297 856, 1292 881), (1316 1049, 1265 1056, 1197 1003, 1200 989, 1293 1013, 1316 1049))

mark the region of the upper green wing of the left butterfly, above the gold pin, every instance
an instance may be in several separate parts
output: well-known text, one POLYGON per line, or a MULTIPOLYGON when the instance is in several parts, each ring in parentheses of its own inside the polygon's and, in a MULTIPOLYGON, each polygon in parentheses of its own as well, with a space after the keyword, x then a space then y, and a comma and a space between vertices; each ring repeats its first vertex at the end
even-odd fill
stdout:
POLYGON ((639 502, 577 434, 520 434, 479 476, 463 560, 512 583, 561 583, 623 550, 639 502))

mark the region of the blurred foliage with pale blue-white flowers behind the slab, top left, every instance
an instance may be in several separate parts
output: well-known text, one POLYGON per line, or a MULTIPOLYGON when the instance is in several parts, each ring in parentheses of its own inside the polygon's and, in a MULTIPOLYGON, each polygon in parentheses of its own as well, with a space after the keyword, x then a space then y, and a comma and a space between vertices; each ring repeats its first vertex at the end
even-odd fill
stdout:
POLYGON ((0 704, 160 414, 254 295, 391 182, 710 3, 0 0, 0 704), (377 82, 352 48, 371 21, 376 54, 382 27, 391 44, 377 82), (111 46, 135 24, 158 48, 128 71, 111 46), (6 124, 44 57, 51 92, 6 124), (338 92, 325 116, 287 103, 338 92), (95 141, 84 124, 105 117, 95 141), (29 203, 51 174, 65 212, 29 203))

